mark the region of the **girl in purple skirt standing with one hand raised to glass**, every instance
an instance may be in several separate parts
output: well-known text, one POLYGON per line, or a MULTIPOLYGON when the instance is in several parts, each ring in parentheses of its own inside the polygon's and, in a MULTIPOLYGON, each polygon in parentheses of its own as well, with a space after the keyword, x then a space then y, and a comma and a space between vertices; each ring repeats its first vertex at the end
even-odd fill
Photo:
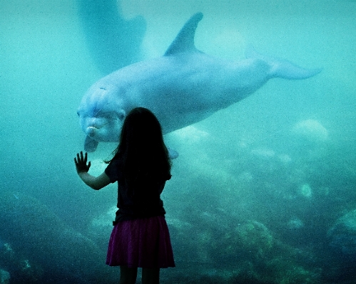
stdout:
POLYGON ((120 284, 159 283, 160 268, 174 267, 173 251, 160 195, 171 179, 171 160, 161 125, 150 110, 137 107, 123 122, 115 156, 103 174, 88 174, 87 153, 76 155, 76 171, 85 184, 102 189, 118 182, 118 211, 106 264, 120 266, 120 284))

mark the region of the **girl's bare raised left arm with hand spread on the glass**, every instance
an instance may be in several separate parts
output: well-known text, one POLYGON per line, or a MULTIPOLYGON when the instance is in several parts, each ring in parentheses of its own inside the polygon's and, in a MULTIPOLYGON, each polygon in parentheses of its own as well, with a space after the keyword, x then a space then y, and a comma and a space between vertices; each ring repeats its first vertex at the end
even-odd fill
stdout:
POLYGON ((76 158, 74 158, 74 163, 76 164, 76 172, 81 180, 92 189, 102 189, 104 186, 110 184, 110 179, 106 175, 105 172, 98 177, 93 177, 91 174, 88 174, 88 170, 91 166, 91 162, 88 162, 88 154, 86 153, 83 156, 83 152, 81 154, 76 154, 76 158))

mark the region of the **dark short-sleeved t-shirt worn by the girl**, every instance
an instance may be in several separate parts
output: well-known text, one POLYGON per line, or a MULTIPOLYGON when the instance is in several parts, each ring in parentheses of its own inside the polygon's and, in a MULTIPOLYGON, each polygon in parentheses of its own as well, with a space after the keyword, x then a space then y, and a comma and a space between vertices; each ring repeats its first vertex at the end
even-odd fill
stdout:
POLYGON ((118 211, 113 224, 126 220, 164 216, 166 211, 160 196, 166 181, 171 179, 171 174, 166 174, 161 179, 148 176, 127 184, 122 169, 120 159, 113 159, 105 169, 110 182, 118 182, 118 211))

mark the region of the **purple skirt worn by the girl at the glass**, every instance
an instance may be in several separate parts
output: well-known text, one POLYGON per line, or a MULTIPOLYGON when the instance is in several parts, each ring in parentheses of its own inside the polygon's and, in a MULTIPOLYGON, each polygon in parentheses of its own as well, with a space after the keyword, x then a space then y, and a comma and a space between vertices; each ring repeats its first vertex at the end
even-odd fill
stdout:
POLYGON ((110 236, 106 264, 129 268, 175 267, 166 219, 156 216, 118 222, 110 236))

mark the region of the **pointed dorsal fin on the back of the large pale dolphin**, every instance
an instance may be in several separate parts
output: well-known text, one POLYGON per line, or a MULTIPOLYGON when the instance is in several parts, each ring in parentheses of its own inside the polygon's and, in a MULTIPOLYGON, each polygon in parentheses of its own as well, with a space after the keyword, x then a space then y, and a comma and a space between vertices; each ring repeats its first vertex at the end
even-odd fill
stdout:
POLYGON ((197 13, 191 16, 183 28, 179 31, 178 35, 171 43, 171 46, 169 46, 164 55, 171 56, 172 54, 180 53, 183 51, 198 51, 194 45, 194 36, 195 29, 197 28, 201 19, 203 19, 202 13, 197 13))

